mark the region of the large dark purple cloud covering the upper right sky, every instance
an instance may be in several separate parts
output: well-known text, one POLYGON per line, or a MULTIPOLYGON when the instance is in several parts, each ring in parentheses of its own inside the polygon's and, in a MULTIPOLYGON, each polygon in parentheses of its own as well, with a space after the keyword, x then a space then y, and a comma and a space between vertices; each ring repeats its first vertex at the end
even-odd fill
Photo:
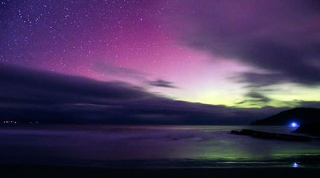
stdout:
POLYGON ((178 1, 182 7, 168 16, 184 24, 181 44, 269 72, 244 73, 244 81, 320 84, 318 1, 178 1))

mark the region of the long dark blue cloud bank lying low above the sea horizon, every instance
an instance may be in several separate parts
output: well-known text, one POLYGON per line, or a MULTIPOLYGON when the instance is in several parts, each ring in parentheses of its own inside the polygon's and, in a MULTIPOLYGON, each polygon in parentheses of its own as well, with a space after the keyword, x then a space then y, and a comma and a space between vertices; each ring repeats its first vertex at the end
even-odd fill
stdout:
MULTIPOLYGON (((103 124, 248 124, 287 108, 175 101, 125 82, 0 64, 0 120, 103 124)), ((259 94, 248 96, 266 100, 259 94)), ((301 103, 303 103, 301 101, 301 103)), ((305 103, 319 106, 318 102, 305 103)))

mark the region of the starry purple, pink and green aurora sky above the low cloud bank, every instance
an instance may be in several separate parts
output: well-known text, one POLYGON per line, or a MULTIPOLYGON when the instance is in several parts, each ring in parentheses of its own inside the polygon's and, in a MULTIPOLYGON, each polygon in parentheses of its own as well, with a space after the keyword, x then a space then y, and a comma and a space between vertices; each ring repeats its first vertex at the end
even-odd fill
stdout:
POLYGON ((308 0, 1 0, 0 65, 15 71, 8 78, 80 77, 174 101, 315 106, 319 9, 308 0))

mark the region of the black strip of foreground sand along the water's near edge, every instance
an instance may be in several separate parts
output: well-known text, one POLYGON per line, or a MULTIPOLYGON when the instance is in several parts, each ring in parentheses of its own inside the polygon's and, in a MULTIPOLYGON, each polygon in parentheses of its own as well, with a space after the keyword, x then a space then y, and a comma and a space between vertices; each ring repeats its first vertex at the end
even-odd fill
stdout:
POLYGON ((319 168, 134 168, 0 165, 1 177, 317 177, 319 168))

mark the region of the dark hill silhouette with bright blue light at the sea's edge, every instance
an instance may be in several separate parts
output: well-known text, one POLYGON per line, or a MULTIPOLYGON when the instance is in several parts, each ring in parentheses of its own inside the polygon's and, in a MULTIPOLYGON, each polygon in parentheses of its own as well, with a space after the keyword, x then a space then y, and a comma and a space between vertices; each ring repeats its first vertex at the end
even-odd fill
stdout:
POLYGON ((296 122, 300 125, 310 125, 310 123, 320 123, 320 109, 317 108, 294 108, 282 111, 276 115, 263 120, 252 122, 255 126, 288 126, 296 122))

